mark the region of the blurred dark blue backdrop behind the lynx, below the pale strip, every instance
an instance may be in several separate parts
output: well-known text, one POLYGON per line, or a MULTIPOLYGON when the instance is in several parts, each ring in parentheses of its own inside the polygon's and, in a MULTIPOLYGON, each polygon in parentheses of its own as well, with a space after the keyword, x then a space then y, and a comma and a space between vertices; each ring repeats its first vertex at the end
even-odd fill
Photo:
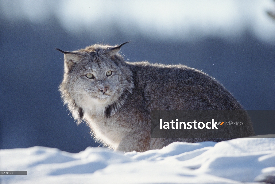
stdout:
POLYGON ((89 31, 76 34, 54 14, 39 23, 0 14, 0 149, 39 145, 76 153, 99 146, 87 125, 77 126, 63 106, 58 91, 63 54, 54 48, 73 51, 131 40, 121 51, 128 61, 185 64, 221 82, 245 109, 275 110, 273 37, 262 40, 246 29, 233 41, 215 35, 157 39, 132 29, 126 34, 115 24, 110 29, 107 36, 89 31))

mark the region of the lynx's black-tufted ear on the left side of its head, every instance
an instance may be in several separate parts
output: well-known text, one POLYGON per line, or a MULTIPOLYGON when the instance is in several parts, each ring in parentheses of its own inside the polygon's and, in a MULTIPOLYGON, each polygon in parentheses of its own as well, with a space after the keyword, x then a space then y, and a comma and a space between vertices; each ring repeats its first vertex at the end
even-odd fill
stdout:
POLYGON ((68 72, 72 69, 73 65, 75 63, 78 63, 79 60, 84 57, 80 53, 76 52, 67 52, 67 51, 62 51, 59 48, 56 48, 56 50, 62 52, 64 54, 64 70, 65 72, 68 72))

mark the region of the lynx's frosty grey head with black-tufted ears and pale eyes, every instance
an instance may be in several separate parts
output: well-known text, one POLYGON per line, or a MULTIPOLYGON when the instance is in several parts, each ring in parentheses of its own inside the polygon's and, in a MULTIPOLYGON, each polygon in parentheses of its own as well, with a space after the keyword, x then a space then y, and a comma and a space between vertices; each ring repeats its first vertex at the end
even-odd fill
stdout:
POLYGON ((132 93, 132 72, 118 54, 124 44, 95 44, 73 52, 56 49, 64 54, 64 79, 59 90, 78 123, 86 112, 112 116, 132 93))

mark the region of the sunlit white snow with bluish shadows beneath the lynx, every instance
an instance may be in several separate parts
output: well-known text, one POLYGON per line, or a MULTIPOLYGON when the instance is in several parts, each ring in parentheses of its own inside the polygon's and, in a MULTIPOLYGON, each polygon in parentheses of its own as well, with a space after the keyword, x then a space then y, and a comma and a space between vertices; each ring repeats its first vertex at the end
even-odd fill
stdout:
POLYGON ((275 182, 275 138, 239 138, 219 143, 175 142, 143 153, 91 148, 0 150, 1 183, 243 183, 275 182))

